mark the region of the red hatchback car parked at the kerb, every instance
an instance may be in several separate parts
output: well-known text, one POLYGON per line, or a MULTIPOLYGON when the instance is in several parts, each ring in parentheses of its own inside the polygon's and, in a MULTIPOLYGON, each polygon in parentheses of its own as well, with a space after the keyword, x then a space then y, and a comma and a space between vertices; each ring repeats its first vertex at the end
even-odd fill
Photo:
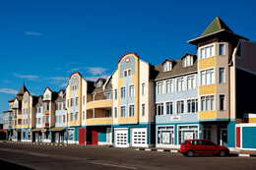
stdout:
POLYGON ((188 157, 194 154, 216 154, 224 157, 229 154, 229 149, 209 140, 187 140, 181 143, 179 152, 188 157))

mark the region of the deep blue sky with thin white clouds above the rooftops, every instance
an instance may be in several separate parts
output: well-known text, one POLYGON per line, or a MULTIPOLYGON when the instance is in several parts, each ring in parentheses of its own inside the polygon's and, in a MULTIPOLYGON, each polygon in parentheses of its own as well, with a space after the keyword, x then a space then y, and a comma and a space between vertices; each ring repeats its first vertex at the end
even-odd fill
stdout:
POLYGON ((253 0, 0 0, 0 122, 24 81, 40 95, 65 88, 74 72, 106 78, 125 44, 152 65, 196 54, 187 40, 217 16, 256 41, 255 9, 253 0))

